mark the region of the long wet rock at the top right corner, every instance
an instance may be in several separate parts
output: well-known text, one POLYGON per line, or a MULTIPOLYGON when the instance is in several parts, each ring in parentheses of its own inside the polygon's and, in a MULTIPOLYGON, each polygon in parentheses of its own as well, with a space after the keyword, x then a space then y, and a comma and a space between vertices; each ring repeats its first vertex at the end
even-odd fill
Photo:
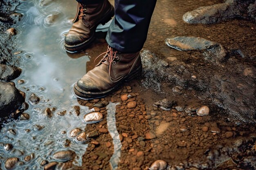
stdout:
POLYGON ((225 3, 199 7, 183 15, 190 24, 213 24, 231 18, 249 18, 255 20, 255 10, 251 10, 254 0, 226 0, 225 3))

